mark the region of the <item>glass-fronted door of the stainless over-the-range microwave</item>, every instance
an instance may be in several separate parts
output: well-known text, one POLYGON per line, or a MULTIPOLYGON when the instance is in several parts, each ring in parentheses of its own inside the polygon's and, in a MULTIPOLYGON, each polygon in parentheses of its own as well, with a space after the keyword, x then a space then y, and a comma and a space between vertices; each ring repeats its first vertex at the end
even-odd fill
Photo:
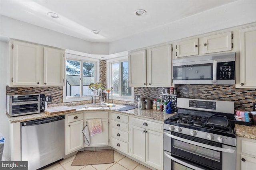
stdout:
POLYGON ((174 84, 217 84, 217 61, 173 63, 174 84))

